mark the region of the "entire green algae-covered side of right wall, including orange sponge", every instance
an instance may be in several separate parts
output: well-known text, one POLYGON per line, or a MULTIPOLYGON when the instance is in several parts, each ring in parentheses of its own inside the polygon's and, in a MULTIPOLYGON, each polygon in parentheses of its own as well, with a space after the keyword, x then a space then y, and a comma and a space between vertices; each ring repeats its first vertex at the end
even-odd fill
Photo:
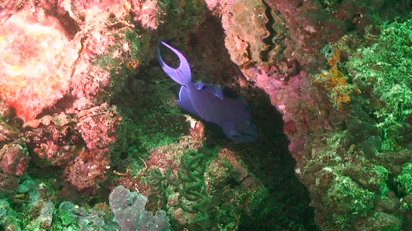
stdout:
POLYGON ((313 77, 330 110, 344 113, 342 129, 314 136, 311 159, 297 168, 315 186, 309 191, 323 230, 398 231, 410 224, 399 201, 412 193, 412 164, 404 164, 412 141, 412 19, 379 28, 379 36, 365 35, 357 49, 351 48, 361 42, 356 37, 332 44, 328 51, 340 56, 325 55, 330 70, 313 77), (340 105, 337 96, 348 100, 340 105))

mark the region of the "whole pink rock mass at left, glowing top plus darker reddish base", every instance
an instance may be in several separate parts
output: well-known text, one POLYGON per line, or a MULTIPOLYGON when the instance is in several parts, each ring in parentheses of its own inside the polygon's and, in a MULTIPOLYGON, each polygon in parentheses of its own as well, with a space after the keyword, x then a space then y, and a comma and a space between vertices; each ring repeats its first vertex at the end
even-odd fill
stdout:
MULTIPOLYGON (((119 42, 119 35, 135 25, 123 17, 154 4, 132 3, 0 1, 0 69, 4 70, 0 72, 0 142, 10 146, 23 139, 33 163, 64 168, 62 178, 80 190, 93 191, 105 178, 109 147, 122 120, 116 109, 104 102, 117 83, 123 84, 117 80, 109 83, 109 77, 115 75, 110 75, 110 70, 130 58, 130 41, 119 42), (113 26, 113 16, 122 22, 113 26), (109 49, 119 43, 116 49, 109 49), (100 59, 110 63, 96 64, 98 56, 105 56, 100 59)), ((145 23, 143 27, 153 26, 152 17, 142 14, 139 20, 145 23)), ((144 53, 145 47, 140 46, 139 51, 144 53)), ((21 175, 28 161, 19 155, 13 158, 17 158, 16 166, 7 155, 2 167, 21 175)), ((10 176, 2 176, 0 184, 16 185, 6 183, 10 176)))

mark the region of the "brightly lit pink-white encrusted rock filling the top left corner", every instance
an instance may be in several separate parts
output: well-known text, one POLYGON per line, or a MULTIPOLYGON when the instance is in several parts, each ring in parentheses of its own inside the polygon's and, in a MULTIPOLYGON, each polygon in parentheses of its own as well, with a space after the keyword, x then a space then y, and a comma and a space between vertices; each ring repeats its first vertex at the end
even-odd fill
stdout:
MULTIPOLYGON (((104 65, 91 61, 118 42, 113 31, 107 30, 108 18, 124 17, 135 6, 127 1, 95 3, 23 1, 16 12, 12 5, 0 3, 0 8, 5 7, 2 12, 7 13, 4 17, 0 14, 4 21, 0 24, 0 68, 4 70, 0 73, 0 97, 25 122, 59 100, 63 102, 56 107, 63 107, 66 113, 104 102, 102 88, 108 85, 110 73, 104 65)), ((150 7, 146 5, 137 10, 150 7)), ((110 52, 111 58, 119 58, 129 52, 129 46, 126 42, 110 52)))

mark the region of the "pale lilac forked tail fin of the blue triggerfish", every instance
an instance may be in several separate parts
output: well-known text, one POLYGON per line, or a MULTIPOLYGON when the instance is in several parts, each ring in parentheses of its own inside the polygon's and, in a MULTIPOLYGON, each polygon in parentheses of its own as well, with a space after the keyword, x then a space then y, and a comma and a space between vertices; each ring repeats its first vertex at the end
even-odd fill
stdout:
POLYGON ((170 76, 174 81, 180 83, 181 85, 187 85, 192 81, 192 74, 190 72, 190 66, 189 63, 187 62, 187 59, 185 56, 183 56, 182 53, 180 53, 178 50, 174 49, 171 47, 169 44, 163 42, 160 40, 163 45, 167 46, 169 49, 171 49, 176 55, 178 55, 180 59, 180 65, 178 68, 174 69, 172 67, 169 67, 162 59, 162 55, 160 55, 160 49, 159 46, 157 46, 157 59, 159 60, 160 66, 166 72, 167 75, 170 76))

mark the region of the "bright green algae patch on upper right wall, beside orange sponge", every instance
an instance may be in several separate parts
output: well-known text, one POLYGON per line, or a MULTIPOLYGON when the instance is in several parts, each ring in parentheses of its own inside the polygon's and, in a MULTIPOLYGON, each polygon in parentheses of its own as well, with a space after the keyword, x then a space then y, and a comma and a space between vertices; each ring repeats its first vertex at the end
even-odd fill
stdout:
MULTIPOLYGON (((381 104, 373 112, 384 131, 384 151, 396 148, 412 114, 412 19, 383 24, 372 46, 357 49, 346 67, 353 83, 381 104)), ((398 144, 399 145, 399 144, 398 144)))

